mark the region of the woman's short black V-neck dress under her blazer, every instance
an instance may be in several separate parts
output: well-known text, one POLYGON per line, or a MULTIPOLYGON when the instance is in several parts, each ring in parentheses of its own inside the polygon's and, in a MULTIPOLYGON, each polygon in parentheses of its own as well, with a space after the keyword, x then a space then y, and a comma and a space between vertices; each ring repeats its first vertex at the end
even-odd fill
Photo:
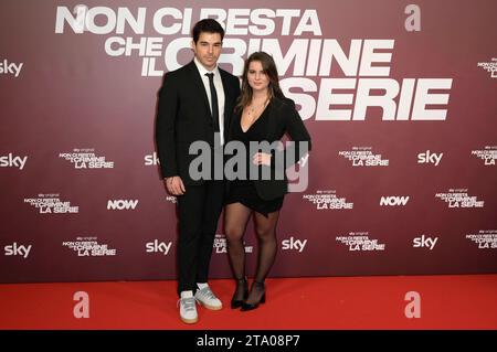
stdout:
MULTIPOLYGON (((271 103, 269 103, 271 104, 271 103)), ((263 214, 267 217, 268 213, 276 212, 282 209, 284 196, 266 201, 258 196, 255 190, 254 182, 248 178, 250 168, 255 168, 252 163, 253 156, 250 154, 250 142, 251 141, 263 141, 267 135, 267 122, 268 122, 268 105, 261 114, 261 116, 252 124, 252 126, 244 132, 241 126, 240 114, 235 115, 233 118, 233 125, 231 129, 231 140, 239 140, 244 143, 245 150, 247 152, 247 174, 245 180, 235 179, 230 182, 229 193, 226 196, 225 204, 231 203, 242 203, 243 205, 250 207, 251 210, 263 214)), ((261 168, 261 167, 258 167, 261 168)), ((258 173, 261 174, 261 172, 258 173)))

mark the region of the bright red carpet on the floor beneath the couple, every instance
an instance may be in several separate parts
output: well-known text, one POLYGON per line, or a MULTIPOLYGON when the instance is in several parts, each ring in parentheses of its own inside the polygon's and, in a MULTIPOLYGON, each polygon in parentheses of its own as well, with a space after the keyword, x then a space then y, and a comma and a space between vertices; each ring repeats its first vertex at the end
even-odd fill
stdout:
POLYGON ((266 303, 229 308, 233 282, 212 280, 224 308, 179 320, 176 281, 0 285, 0 329, 497 329, 497 275, 285 278, 266 281, 266 303), (75 318, 77 291, 89 318, 75 318), (420 294, 406 318, 405 294, 420 294))

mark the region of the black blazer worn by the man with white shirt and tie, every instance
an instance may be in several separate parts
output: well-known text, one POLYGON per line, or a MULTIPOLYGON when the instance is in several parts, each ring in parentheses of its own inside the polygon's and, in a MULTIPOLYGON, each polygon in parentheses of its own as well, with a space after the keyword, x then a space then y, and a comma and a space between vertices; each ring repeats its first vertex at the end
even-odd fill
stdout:
MULTIPOLYGON (((240 81, 219 68, 224 89, 224 140, 236 98, 240 81)), ((208 93, 193 61, 168 72, 159 90, 156 119, 156 142, 163 178, 180 175, 184 184, 199 184, 189 175, 190 162, 197 156, 189 154, 190 143, 197 140, 214 146, 214 127, 208 93)))

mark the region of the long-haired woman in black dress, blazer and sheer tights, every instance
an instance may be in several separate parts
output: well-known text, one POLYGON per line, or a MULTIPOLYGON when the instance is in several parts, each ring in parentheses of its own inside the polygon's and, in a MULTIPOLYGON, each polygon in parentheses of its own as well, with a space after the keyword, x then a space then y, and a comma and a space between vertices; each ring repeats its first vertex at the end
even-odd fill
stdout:
POLYGON ((231 308, 241 307, 245 311, 265 302, 264 280, 276 256, 276 224, 287 192, 284 170, 310 150, 309 134, 294 102, 285 98, 279 88, 273 57, 264 52, 253 53, 245 62, 242 94, 230 126, 229 141, 245 146, 247 161, 246 168, 243 168, 245 172, 242 172, 244 175, 240 177, 237 172, 239 177, 229 181, 224 211, 228 253, 236 280, 231 308), (251 151, 251 142, 275 146, 285 134, 293 140, 290 148, 260 148, 258 151, 251 151), (257 178, 251 177, 250 170, 254 168, 258 171, 257 178), (264 168, 269 170, 269 179, 262 179, 264 168), (283 177, 278 178, 278 174, 283 177), (256 274, 248 291, 243 236, 251 214, 255 220, 258 256, 256 274))

